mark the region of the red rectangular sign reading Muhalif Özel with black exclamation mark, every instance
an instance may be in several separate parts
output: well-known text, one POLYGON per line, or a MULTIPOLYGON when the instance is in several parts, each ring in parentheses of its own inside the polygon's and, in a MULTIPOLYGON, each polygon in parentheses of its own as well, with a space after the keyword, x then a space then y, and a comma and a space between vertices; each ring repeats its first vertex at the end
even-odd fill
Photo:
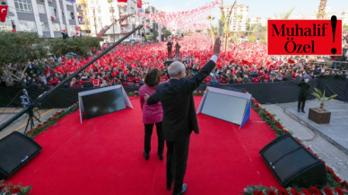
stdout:
POLYGON ((342 55, 342 20, 268 20, 268 55, 342 55))

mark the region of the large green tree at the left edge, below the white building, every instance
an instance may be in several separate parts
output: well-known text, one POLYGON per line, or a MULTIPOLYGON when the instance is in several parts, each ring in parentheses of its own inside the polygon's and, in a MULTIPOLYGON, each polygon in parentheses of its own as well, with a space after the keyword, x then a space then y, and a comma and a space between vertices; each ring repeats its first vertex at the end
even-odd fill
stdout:
POLYGON ((0 31, 0 75, 10 83, 21 81, 29 61, 48 56, 47 46, 48 39, 34 32, 0 31))

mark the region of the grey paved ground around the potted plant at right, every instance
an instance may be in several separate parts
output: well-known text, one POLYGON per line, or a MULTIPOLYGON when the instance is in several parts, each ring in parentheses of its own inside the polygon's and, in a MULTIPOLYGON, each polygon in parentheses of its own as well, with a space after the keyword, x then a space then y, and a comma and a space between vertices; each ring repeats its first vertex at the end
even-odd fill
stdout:
POLYGON ((337 100, 325 102, 324 108, 331 111, 329 124, 317 124, 309 120, 309 108, 318 108, 319 105, 320 102, 317 99, 307 101, 306 113, 302 113, 297 111, 297 102, 279 104, 285 111, 304 122, 310 129, 315 130, 321 137, 326 138, 327 141, 348 155, 348 103, 337 100))

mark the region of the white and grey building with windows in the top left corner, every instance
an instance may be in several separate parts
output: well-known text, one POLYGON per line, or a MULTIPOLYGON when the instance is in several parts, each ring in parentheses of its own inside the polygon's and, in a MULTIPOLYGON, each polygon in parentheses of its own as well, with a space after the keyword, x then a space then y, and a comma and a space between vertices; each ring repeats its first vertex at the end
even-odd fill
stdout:
POLYGON ((0 31, 37 32, 47 38, 62 37, 62 30, 72 37, 79 26, 77 7, 66 0, 5 0, 8 13, 0 22, 0 31))

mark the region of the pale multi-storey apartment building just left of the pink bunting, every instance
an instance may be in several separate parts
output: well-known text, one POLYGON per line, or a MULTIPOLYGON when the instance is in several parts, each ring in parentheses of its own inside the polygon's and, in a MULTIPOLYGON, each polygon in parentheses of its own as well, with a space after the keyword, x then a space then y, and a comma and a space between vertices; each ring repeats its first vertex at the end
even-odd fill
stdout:
MULTIPOLYGON (((137 12, 154 13, 152 6, 143 3, 141 10, 138 10, 136 0, 128 0, 126 3, 124 1, 118 2, 113 0, 108 3, 107 0, 78 0, 78 7, 83 8, 83 13, 79 13, 84 17, 85 25, 82 26, 82 30, 91 31, 91 36, 97 37, 98 33, 109 26, 109 30, 102 33, 101 37, 106 42, 114 42, 119 40, 129 31, 132 31, 137 24, 146 24, 143 17, 137 16, 137 12), (131 15, 126 18, 126 20, 119 22, 118 20, 126 15, 131 15), (118 22, 117 22, 118 21, 118 22), (111 25, 116 22, 114 25, 111 25)), ((148 21, 150 23, 150 21, 148 21)), ((150 25, 149 25, 150 27, 150 25)), ((141 32, 145 32, 142 29, 141 32)), ((131 40, 141 40, 139 33, 135 33, 130 36, 125 41, 131 40)))

